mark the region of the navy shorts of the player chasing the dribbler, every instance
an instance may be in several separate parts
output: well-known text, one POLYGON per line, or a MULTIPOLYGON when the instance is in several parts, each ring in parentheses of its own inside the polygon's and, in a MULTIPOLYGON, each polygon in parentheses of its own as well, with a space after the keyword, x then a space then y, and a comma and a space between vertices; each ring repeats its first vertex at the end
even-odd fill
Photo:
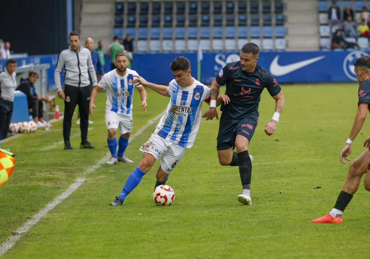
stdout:
POLYGON ((234 148, 236 135, 242 135, 250 142, 257 127, 257 122, 258 118, 233 119, 222 113, 217 136, 217 150, 234 148))

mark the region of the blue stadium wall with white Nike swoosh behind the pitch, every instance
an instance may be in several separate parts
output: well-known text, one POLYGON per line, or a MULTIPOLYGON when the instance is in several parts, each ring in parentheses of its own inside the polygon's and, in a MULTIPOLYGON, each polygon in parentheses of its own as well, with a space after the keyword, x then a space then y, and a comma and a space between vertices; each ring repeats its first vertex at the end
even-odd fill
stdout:
MULTIPOLYGON (((353 82, 357 81, 353 72, 354 61, 369 54, 370 51, 261 52, 258 64, 270 70, 279 83, 353 82)), ((169 64, 177 56, 190 60, 192 75, 196 78, 196 53, 135 54, 132 69, 152 83, 168 84, 173 79, 169 64)), ((49 91, 55 90, 54 68, 57 60, 58 54, 17 59, 18 65, 49 63, 49 91)), ((210 84, 226 63, 237 60, 239 53, 203 53, 201 82, 210 84)), ((109 62, 105 62, 106 71, 110 70, 109 62)), ((4 67, 5 60, 0 60, 0 70, 4 67)))

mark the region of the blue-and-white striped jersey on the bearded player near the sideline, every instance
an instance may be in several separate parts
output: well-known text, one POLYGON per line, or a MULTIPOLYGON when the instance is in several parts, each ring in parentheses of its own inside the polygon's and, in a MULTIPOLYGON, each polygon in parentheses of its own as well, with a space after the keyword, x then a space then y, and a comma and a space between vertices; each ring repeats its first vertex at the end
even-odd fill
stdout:
POLYGON ((98 86, 104 88, 107 92, 105 111, 113 111, 118 114, 131 114, 132 99, 134 96, 133 75, 138 75, 138 73, 129 68, 127 68, 126 74, 123 77, 115 69, 104 74, 98 86))

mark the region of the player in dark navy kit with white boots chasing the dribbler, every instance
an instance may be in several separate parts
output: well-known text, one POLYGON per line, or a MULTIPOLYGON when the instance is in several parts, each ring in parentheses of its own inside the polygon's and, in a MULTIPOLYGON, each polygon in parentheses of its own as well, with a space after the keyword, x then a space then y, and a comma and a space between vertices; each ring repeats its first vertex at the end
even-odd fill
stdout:
POLYGON ((267 135, 275 132, 284 106, 280 85, 268 70, 257 64, 258 54, 258 46, 247 43, 240 51, 240 61, 228 63, 222 68, 212 81, 211 105, 203 114, 203 118, 212 120, 216 114, 216 100, 222 98, 222 115, 217 137, 218 160, 221 165, 239 166, 243 190, 242 194, 238 195, 238 201, 248 205, 252 204, 252 161, 248 154, 248 144, 257 127, 258 105, 263 89, 267 88, 276 102, 275 113, 265 127, 267 135), (218 97, 219 88, 224 84, 226 92, 218 97))

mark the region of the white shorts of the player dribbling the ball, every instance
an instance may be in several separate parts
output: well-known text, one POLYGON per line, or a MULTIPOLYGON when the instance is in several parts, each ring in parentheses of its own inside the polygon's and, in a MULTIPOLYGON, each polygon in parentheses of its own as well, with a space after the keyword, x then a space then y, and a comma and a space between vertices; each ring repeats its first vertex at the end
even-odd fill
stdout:
POLYGON ((153 133, 147 143, 142 145, 139 150, 152 154, 157 160, 160 157, 162 170, 166 174, 170 174, 184 157, 186 148, 153 133))

